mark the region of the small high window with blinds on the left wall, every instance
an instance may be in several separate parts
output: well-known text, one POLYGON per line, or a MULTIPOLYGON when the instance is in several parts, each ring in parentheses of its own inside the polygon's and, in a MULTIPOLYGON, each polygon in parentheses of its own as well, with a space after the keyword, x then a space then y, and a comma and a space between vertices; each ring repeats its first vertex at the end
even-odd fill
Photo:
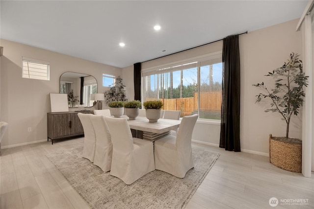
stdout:
POLYGON ((22 77, 49 81, 49 63, 23 57, 22 77))

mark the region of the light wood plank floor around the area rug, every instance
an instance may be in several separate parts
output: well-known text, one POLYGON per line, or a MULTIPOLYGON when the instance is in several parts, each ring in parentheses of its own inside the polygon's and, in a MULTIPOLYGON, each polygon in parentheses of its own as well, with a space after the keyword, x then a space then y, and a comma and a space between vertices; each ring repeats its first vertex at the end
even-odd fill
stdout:
MULTIPOLYGON (((83 139, 51 141, 2 149, 1 209, 88 209, 88 205, 45 157, 78 147, 83 139)), ((305 178, 269 163, 267 157, 228 152, 218 147, 193 146, 221 154, 199 186, 187 209, 265 209, 271 197, 308 199, 308 205, 276 208, 314 208, 314 175, 305 178)))

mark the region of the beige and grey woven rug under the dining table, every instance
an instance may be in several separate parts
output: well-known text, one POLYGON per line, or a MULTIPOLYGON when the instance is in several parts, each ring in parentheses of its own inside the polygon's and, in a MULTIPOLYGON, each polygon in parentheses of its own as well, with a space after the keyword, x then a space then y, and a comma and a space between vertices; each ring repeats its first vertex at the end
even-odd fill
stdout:
POLYGON ((219 154, 193 148, 194 168, 183 179, 154 170, 126 185, 82 158, 83 147, 47 155, 92 209, 181 209, 202 183, 219 154))

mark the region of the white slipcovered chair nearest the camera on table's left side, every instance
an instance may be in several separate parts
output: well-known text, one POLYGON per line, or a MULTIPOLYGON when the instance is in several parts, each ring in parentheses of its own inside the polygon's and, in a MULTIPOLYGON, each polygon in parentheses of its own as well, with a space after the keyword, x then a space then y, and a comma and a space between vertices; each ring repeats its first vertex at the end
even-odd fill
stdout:
POLYGON ((126 118, 105 117, 113 144, 110 175, 127 185, 155 170, 153 142, 132 138, 126 118))

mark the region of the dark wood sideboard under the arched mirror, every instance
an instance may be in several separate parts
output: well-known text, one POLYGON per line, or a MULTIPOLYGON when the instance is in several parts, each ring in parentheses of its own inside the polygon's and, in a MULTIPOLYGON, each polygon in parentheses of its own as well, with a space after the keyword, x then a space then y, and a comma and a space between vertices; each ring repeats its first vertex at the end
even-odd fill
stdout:
POLYGON ((93 111, 47 113, 47 141, 83 136, 84 130, 78 113, 93 114, 93 111))

